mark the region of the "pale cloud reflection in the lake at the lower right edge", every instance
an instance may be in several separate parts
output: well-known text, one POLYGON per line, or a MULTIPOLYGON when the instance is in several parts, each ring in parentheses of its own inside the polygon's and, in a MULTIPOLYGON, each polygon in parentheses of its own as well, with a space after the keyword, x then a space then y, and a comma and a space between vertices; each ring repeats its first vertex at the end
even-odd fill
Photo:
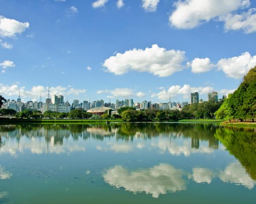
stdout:
POLYGON ((248 189, 252 189, 255 185, 255 181, 250 178, 239 162, 229 164, 225 170, 220 171, 219 177, 223 182, 240 184, 248 189))

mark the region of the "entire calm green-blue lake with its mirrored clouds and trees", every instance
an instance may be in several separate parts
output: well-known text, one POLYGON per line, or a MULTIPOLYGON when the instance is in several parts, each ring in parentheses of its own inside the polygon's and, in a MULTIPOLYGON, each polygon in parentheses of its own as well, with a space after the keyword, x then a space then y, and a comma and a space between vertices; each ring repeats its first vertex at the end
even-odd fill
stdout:
POLYGON ((0 203, 256 202, 255 130, 0 125, 0 136, 0 203))

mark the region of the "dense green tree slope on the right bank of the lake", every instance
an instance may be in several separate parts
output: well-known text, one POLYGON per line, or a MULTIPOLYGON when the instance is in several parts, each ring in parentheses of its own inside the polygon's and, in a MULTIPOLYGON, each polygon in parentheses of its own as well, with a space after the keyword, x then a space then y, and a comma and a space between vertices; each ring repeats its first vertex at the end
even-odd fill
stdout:
POLYGON ((217 119, 255 119, 256 117, 256 66, 244 76, 239 88, 225 99, 215 112, 217 119))

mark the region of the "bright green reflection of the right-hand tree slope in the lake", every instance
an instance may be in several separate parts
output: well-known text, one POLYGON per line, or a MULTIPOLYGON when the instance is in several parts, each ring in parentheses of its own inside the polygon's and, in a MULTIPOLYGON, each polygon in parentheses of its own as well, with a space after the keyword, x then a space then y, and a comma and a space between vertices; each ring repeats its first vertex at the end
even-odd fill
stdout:
POLYGON ((239 159, 247 173, 256 180, 256 133, 251 129, 224 127, 215 133, 230 154, 239 159))

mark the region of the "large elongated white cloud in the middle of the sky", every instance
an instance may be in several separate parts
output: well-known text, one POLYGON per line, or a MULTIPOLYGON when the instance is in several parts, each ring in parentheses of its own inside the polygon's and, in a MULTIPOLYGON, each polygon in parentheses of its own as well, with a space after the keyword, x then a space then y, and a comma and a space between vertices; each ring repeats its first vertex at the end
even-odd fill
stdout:
POLYGON ((185 52, 179 50, 166 50, 152 45, 151 48, 136 49, 117 53, 105 60, 103 66, 114 74, 125 74, 128 71, 149 72, 159 77, 167 77, 184 66, 185 52))

